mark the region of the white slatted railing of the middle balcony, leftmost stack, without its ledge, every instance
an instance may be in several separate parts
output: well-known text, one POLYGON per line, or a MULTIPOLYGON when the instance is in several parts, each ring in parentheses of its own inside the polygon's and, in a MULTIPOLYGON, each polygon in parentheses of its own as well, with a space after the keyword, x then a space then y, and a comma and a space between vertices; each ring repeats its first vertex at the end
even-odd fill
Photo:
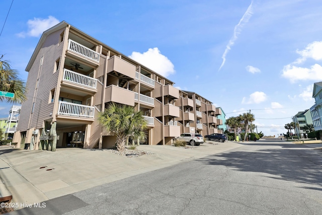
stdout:
POLYGON ((64 69, 64 81, 76 83, 82 86, 90 87, 96 89, 97 79, 94 79, 83 74, 75 73, 74 71, 64 69))

